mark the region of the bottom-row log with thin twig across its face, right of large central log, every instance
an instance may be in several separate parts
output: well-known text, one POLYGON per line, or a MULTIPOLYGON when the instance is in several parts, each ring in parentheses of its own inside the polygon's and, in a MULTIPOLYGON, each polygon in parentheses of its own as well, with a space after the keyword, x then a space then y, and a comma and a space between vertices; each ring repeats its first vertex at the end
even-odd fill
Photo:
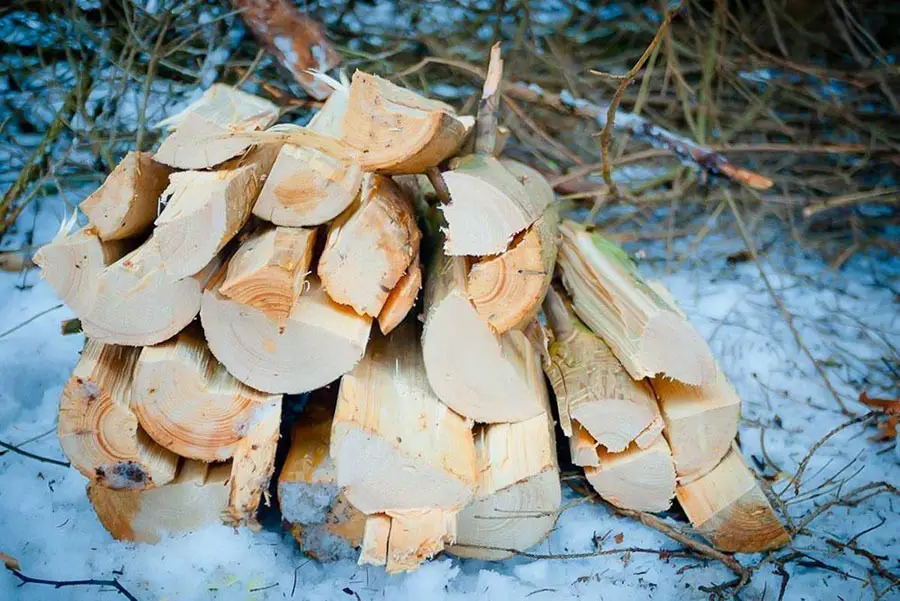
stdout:
POLYGON ((476 428, 475 500, 459 514, 454 555, 505 559, 538 544, 556 523, 562 502, 556 437, 546 385, 540 385, 544 413, 476 428))

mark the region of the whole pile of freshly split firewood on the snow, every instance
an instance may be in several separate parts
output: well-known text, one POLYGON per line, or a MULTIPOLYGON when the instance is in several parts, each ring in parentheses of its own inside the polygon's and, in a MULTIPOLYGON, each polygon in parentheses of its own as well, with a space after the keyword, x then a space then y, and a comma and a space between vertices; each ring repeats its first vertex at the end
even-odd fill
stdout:
POLYGON ((499 56, 477 119, 362 72, 323 81, 306 127, 213 86, 35 257, 88 338, 59 436, 113 536, 255 525, 282 395, 309 392, 277 486, 305 552, 507 557, 560 509, 546 373, 609 502, 677 496, 722 549, 783 542, 704 341, 498 158, 499 56))

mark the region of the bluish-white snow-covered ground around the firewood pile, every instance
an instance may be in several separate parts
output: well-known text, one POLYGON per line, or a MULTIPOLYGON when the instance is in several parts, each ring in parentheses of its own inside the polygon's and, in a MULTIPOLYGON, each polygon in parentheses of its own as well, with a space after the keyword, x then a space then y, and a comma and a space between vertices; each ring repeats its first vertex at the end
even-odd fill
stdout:
MULTIPOLYGON (((49 240, 62 218, 62 206, 45 201, 37 216, 23 215, 20 233, 7 245, 26 242, 32 231, 34 243, 49 240)), ((768 270, 772 285, 848 408, 864 413, 865 408, 854 401, 862 391, 896 396, 900 264, 859 257, 834 274, 789 243, 776 247, 786 256, 773 260, 768 270)), ((783 492, 794 525, 817 506, 841 497, 852 501, 852 506, 830 506, 806 525, 806 534, 798 536, 791 548, 760 564, 741 598, 777 599, 783 583, 786 599, 900 598, 900 589, 890 588, 891 579, 897 582, 900 574, 900 499, 889 485, 870 484, 900 484, 895 443, 869 440, 875 432, 870 425, 846 428, 812 457, 799 496, 793 488, 785 491, 789 475, 797 471, 810 447, 849 418, 837 410, 821 376, 797 346, 756 266, 726 262, 726 255, 739 248, 733 240, 710 238, 697 253, 711 257, 704 263, 685 262, 671 275, 665 274, 663 261, 648 260, 644 267, 662 277, 711 341, 744 399, 740 432, 744 453, 766 476, 777 478, 773 489, 783 492), (857 549, 864 552, 840 551, 839 544, 828 542, 847 543, 873 527, 855 539, 857 549), (873 555, 867 558, 865 553, 873 555)), ((53 431, 57 398, 82 339, 60 336, 59 323, 70 316, 65 308, 8 331, 57 304, 36 272, 0 273, 0 440, 20 444, 46 433, 23 448, 62 459, 53 431)), ((709 597, 701 587, 734 578, 714 561, 615 551, 676 550, 679 545, 592 503, 565 511, 550 539, 533 551, 592 553, 599 546, 609 554, 502 563, 441 556, 413 574, 387 577, 380 569, 351 562, 309 561, 275 529, 253 534, 211 527, 156 546, 118 543, 94 518, 84 488, 85 479, 74 469, 13 453, 0 456, 0 551, 16 557, 22 572, 32 577, 118 578, 141 601, 419 600, 470 595, 503 601, 701 599, 709 597)), ((677 516, 673 512, 669 517, 677 516)), ((739 556, 747 566, 761 559, 739 556)), ((20 587, 12 574, 0 569, 4 601, 117 598, 110 588, 20 587)))

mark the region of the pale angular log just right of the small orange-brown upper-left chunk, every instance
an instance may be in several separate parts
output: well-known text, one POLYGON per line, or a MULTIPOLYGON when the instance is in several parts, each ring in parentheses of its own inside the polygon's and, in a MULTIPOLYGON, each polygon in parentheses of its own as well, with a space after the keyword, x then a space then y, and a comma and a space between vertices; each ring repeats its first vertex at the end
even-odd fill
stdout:
POLYGON ((202 270, 250 218, 253 203, 278 153, 267 144, 218 171, 173 173, 156 218, 166 274, 180 280, 202 270))

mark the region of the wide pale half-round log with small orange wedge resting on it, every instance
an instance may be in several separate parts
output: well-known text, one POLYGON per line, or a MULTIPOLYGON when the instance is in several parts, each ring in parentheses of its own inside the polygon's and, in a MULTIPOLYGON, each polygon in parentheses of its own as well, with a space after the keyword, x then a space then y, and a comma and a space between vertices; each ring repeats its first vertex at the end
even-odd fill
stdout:
POLYGON ((200 319, 213 355, 257 390, 298 394, 321 388, 363 356, 372 319, 338 305, 318 278, 307 278, 283 324, 218 291, 223 273, 203 293, 200 319))

